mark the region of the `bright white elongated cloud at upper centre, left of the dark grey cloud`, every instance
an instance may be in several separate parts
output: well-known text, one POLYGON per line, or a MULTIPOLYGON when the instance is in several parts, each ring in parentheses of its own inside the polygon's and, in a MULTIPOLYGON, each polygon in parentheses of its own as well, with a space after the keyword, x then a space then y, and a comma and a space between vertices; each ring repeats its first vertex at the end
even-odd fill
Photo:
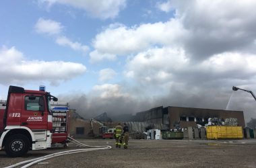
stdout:
POLYGON ((176 45, 185 35, 181 23, 174 19, 131 28, 114 24, 96 35, 93 46, 101 53, 131 54, 156 45, 176 45))

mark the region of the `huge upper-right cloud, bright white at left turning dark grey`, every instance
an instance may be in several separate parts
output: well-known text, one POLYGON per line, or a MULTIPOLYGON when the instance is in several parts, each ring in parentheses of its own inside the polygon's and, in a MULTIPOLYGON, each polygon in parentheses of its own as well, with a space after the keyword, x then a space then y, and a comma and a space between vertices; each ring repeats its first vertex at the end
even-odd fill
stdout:
MULTIPOLYGON (((102 54, 136 54, 155 46, 184 48, 204 60, 213 54, 236 52, 256 39, 256 1, 166 1, 175 9, 168 22, 127 27, 112 24, 92 42, 102 54), (248 11, 252 13, 249 15, 248 11)), ((253 51, 253 50, 252 50, 253 51)))

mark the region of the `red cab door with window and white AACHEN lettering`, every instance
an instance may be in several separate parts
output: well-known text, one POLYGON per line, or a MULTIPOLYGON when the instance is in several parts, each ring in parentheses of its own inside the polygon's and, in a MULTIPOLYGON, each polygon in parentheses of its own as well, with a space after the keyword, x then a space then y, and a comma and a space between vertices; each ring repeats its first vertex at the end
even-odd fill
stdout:
POLYGON ((43 95, 24 95, 21 126, 31 130, 47 130, 48 113, 43 95))

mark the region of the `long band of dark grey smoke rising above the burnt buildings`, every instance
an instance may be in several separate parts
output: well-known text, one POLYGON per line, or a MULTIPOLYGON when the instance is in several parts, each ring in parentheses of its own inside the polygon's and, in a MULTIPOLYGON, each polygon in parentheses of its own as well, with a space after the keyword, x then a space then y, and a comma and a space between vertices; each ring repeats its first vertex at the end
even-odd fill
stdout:
POLYGON ((248 93, 232 91, 232 87, 224 91, 212 87, 201 89, 197 93, 192 93, 189 89, 188 91, 185 89, 183 91, 171 90, 166 95, 137 99, 134 97, 90 97, 80 93, 61 95, 59 101, 69 102, 70 108, 77 110, 84 118, 94 118, 106 112, 110 118, 121 120, 119 117, 124 114, 132 115, 158 106, 239 110, 244 111, 245 122, 256 118, 256 102, 248 93))

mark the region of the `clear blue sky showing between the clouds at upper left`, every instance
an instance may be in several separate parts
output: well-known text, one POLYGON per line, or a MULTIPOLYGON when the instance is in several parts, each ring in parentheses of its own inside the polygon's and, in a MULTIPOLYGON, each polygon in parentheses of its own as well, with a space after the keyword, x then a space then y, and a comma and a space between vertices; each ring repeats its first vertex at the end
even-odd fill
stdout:
MULTIPOLYGON (((55 43, 55 37, 36 32, 36 22, 38 19, 44 19, 57 22, 62 26, 62 34, 88 46, 92 50, 92 40, 105 27, 110 24, 125 24, 126 26, 139 25, 141 23, 158 22, 162 18, 168 20, 168 15, 162 13, 156 8, 154 1, 123 1, 123 10, 115 17, 103 18, 88 13, 84 9, 71 7, 69 3, 60 5, 59 3, 51 5, 51 1, 3 1, 0 9, 0 44, 6 48, 15 47, 24 54, 28 60, 54 61, 63 60, 65 62, 79 62, 86 67, 86 72, 71 80, 52 87, 47 80, 32 81, 33 85, 46 85, 49 90, 56 90, 57 93, 63 93, 61 85, 70 89, 64 91, 82 90, 90 91, 98 83, 98 71, 111 67, 111 69, 121 72, 125 64, 125 57, 118 58, 116 62, 108 61, 96 62, 91 64, 88 58, 89 51, 72 50, 68 47, 58 46, 55 43), (148 13, 148 12, 154 12, 148 13)), ((104 15, 104 14, 103 14, 104 15)), ((56 67, 53 67, 53 71, 56 67)), ((54 72, 53 72, 54 73, 54 72)), ((122 77, 117 75, 113 81, 117 82, 122 77)), ((31 81, 30 81, 31 82, 31 81)), ((23 81, 22 85, 31 85, 30 82, 23 81)), ((7 83, 6 83, 7 84, 7 83)), ((11 83, 9 83, 11 84, 11 83)), ((15 83, 13 83, 15 84, 15 83)), ((19 84, 19 83, 17 83, 19 84)), ((35 87, 37 89, 37 86, 35 87)), ((4 97, 4 95, 2 95, 4 97)))

